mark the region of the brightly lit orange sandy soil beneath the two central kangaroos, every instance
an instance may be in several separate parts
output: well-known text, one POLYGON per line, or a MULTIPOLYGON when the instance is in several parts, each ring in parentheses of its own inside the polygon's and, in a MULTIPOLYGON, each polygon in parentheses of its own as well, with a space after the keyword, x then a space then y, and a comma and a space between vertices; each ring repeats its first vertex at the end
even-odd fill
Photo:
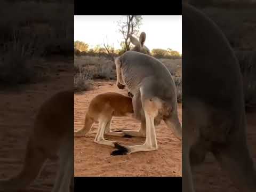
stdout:
MULTIPOLYGON (((119 90, 115 81, 97 81, 92 91, 75 94, 75 131, 82 129, 84 117, 92 98, 99 93, 119 92, 127 95, 127 90, 119 90)), ((181 105, 179 105, 181 121, 181 105)), ((115 117, 111 129, 139 129, 139 122, 128 117, 115 117)), ((114 149, 94 143, 98 124, 82 138, 75 138, 75 176, 173 176, 181 177, 181 141, 174 137, 162 121, 156 127, 157 151, 141 152, 124 156, 110 156, 114 149)), ((124 145, 138 145, 143 138, 106 137, 124 145)))

